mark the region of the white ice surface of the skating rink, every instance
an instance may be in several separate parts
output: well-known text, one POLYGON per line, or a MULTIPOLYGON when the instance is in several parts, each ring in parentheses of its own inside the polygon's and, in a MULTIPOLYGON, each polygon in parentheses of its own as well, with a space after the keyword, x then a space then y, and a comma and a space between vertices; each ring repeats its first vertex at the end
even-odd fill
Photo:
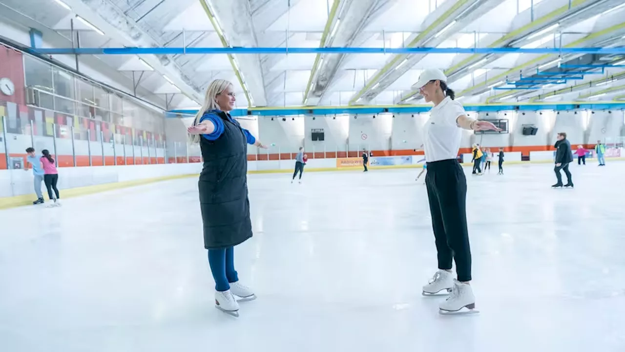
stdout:
POLYGON ((421 296, 418 169, 250 175, 239 318, 214 308, 194 178, 4 210, 0 351, 625 351, 625 163, 571 171, 465 168, 471 316, 421 296))

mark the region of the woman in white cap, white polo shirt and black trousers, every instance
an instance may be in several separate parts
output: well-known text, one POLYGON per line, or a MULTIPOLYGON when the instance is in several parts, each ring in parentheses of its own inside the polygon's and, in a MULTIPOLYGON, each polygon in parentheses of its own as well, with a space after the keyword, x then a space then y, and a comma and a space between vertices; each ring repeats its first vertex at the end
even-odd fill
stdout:
POLYGON ((487 121, 471 120, 461 103, 454 101, 454 91, 446 84, 441 70, 425 70, 412 86, 427 102, 434 103, 424 126, 424 150, 427 162, 427 198, 432 215, 432 228, 438 252, 438 271, 423 294, 451 292, 439 304, 440 313, 475 308, 471 281, 471 249, 466 220, 466 177, 457 155, 465 130, 497 130, 487 121), (457 280, 452 277, 452 261, 456 262, 457 280))

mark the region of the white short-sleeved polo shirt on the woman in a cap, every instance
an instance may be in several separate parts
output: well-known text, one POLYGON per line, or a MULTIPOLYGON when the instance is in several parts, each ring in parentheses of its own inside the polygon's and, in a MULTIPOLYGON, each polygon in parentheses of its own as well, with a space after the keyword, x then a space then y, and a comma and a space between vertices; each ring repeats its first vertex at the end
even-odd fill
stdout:
POLYGON ((457 158, 462 139, 462 129, 456 123, 460 115, 466 115, 462 104, 451 100, 449 96, 432 107, 430 118, 424 126, 426 162, 457 158))

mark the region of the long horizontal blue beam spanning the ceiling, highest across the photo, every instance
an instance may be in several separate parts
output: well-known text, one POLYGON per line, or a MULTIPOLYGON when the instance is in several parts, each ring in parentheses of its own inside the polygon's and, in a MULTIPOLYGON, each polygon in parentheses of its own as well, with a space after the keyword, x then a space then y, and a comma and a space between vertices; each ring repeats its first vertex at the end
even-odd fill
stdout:
MULTIPOLYGON (((625 54, 621 48, 31 48, 39 54, 625 54)), ((625 65, 623 65, 625 67, 625 65)), ((599 66, 596 66, 599 67, 599 66)), ((618 67, 618 66, 606 66, 618 67)))

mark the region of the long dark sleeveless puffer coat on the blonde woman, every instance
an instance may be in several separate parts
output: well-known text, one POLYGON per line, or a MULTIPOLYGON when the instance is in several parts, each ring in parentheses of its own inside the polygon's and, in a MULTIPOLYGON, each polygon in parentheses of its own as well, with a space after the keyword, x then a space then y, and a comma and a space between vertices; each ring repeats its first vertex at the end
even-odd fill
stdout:
POLYGON ((199 202, 206 249, 236 246, 252 237, 247 199, 247 140, 241 125, 223 111, 224 132, 216 140, 200 138, 204 167, 199 202))

